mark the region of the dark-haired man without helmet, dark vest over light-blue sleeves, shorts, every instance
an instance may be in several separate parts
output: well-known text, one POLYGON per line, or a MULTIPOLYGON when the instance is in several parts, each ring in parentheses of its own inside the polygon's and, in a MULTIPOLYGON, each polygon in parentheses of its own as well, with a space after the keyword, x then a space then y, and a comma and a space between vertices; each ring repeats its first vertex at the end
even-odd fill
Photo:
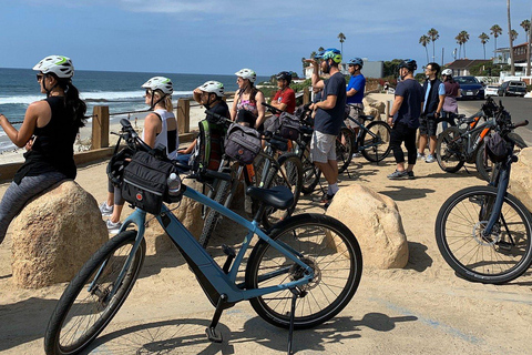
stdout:
POLYGON ((436 129, 438 128, 438 119, 440 118, 443 101, 446 100, 446 85, 438 79, 440 65, 438 63, 428 63, 424 67, 427 80, 423 84, 424 90, 424 110, 419 119, 419 145, 418 159, 424 160, 426 163, 433 163, 436 144, 436 129), (424 158, 424 149, 429 141, 429 155, 424 158))

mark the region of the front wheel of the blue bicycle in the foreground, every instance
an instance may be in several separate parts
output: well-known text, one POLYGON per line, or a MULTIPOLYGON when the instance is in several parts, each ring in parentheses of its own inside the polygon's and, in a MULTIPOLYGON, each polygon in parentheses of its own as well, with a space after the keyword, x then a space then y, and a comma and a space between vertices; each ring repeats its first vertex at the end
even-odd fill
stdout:
POLYGON ((135 243, 135 236, 136 231, 124 231, 109 240, 66 286, 48 323, 44 335, 44 351, 48 355, 78 354, 89 346, 114 317, 130 294, 144 262, 146 243, 143 240, 114 296, 110 301, 104 300, 135 243), (122 253, 123 247, 129 251, 122 253), (115 255, 116 252, 120 253, 115 255), (99 275, 98 286, 89 291, 103 263, 105 266, 99 275), (84 332, 80 332, 81 329, 84 332))

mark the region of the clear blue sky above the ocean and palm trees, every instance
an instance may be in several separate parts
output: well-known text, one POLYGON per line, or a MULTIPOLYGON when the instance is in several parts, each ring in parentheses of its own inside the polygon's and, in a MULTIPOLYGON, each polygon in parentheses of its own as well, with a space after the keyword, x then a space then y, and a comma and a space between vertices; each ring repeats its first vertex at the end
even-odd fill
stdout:
MULTIPOLYGON (((523 43, 520 23, 531 19, 532 0, 512 0, 511 11, 515 43, 523 43)), ((60 54, 81 70, 301 73, 301 58, 319 47, 341 49, 340 32, 345 59, 412 58, 423 65, 419 39, 431 28, 440 34, 436 62, 443 49, 448 63, 462 30, 470 34, 469 59, 483 59, 478 37, 491 37, 489 58, 495 23, 503 29, 497 47, 508 47, 504 0, 0 0, 0 68, 32 68, 60 54)), ((432 61, 432 43, 428 50, 432 61)))

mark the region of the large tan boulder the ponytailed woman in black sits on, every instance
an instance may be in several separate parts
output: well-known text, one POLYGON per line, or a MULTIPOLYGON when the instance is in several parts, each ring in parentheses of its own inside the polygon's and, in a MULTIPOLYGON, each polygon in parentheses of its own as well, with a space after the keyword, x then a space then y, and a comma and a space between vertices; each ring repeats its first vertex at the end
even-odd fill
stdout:
POLYGON ((96 201, 70 180, 30 201, 11 229, 13 282, 25 288, 72 280, 109 240, 96 201))

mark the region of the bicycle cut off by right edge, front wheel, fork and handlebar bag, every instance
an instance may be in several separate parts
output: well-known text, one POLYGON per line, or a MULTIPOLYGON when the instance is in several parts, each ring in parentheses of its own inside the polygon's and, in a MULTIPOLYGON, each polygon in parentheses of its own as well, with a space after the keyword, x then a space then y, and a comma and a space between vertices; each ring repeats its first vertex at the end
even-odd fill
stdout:
POLYGON ((436 220, 436 241, 446 262, 461 277, 501 284, 522 275, 532 264, 532 215, 518 197, 507 192, 510 171, 518 156, 510 132, 510 114, 500 111, 494 119, 502 153, 487 146, 494 162, 488 186, 458 191, 441 206, 436 220))

